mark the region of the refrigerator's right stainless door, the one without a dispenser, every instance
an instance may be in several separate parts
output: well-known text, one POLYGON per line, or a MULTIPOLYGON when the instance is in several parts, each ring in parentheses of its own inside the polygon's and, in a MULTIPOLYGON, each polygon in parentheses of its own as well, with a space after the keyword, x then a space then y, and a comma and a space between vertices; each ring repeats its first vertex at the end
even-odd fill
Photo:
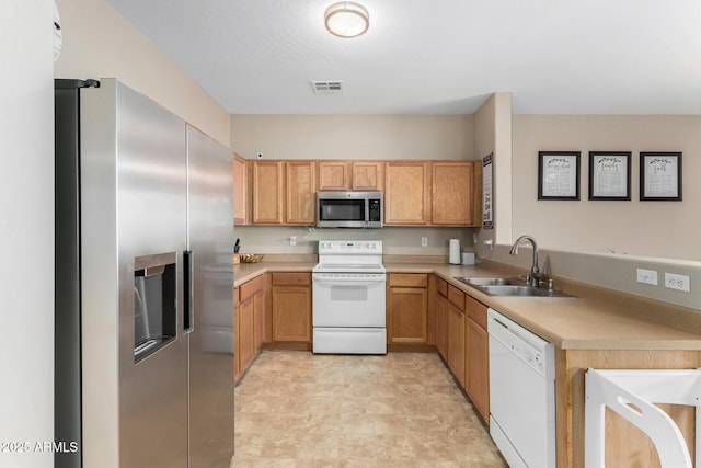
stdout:
POLYGON ((187 126, 189 466, 233 455, 233 173, 231 151, 187 126))

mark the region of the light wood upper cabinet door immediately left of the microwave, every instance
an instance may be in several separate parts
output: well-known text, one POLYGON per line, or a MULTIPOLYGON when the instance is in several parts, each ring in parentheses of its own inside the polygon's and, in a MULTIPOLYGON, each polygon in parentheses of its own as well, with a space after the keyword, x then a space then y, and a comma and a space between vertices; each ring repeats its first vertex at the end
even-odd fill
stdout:
POLYGON ((287 161, 287 210, 288 225, 313 226, 317 224, 317 190, 314 161, 287 161))

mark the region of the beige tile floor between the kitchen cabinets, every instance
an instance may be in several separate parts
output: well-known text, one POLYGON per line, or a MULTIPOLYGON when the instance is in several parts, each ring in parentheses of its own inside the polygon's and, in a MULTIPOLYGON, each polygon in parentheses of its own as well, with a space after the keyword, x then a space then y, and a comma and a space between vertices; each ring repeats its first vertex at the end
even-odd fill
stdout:
POLYGON ((507 466, 436 354, 264 351, 235 407, 231 467, 507 466))

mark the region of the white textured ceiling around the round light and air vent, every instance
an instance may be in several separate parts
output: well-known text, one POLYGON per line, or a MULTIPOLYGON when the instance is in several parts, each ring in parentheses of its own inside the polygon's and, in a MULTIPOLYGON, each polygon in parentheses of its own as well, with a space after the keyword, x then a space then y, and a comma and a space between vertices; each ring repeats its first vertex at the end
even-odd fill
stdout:
POLYGON ((699 0, 108 0, 232 114, 701 114, 699 0), (310 81, 343 80, 343 94, 310 81))

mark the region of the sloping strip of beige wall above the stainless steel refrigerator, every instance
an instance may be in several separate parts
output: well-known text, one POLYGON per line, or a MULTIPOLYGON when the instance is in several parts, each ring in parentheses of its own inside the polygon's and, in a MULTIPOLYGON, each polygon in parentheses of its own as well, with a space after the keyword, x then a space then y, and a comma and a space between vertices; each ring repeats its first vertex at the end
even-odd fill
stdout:
POLYGON ((57 0, 64 52, 56 78, 117 78, 227 147, 230 117, 105 0, 57 0))

